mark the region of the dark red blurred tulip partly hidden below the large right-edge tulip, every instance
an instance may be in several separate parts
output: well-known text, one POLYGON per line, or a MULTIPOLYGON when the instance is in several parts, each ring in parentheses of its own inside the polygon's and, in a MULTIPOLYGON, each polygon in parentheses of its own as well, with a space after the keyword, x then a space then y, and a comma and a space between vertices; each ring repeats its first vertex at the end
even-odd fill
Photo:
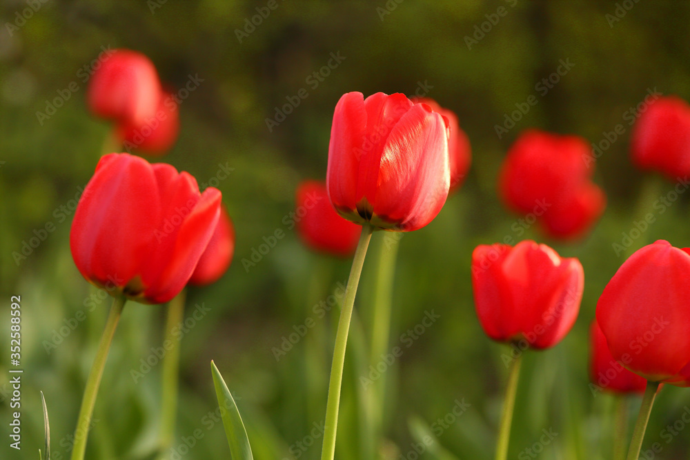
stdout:
POLYGON ((596 320, 589 328, 590 366, 589 378, 596 386, 611 392, 644 392, 647 381, 623 367, 624 363, 611 356, 606 337, 596 320))

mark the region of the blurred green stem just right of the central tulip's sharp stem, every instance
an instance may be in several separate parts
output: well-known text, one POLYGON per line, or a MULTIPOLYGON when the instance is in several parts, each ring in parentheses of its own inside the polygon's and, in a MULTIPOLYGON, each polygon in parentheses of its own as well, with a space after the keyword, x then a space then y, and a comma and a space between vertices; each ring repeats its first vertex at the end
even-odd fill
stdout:
MULTIPOLYGON (((376 268, 373 320, 371 331, 370 364, 376 366, 382 355, 388 351, 391 337, 391 306, 393 304, 393 279, 395 275, 395 261, 401 233, 385 232, 381 241, 379 258, 376 268)), ((375 391, 373 398, 372 424, 377 439, 383 436, 383 418, 386 394, 386 377, 381 374, 380 379, 372 386, 375 391)))

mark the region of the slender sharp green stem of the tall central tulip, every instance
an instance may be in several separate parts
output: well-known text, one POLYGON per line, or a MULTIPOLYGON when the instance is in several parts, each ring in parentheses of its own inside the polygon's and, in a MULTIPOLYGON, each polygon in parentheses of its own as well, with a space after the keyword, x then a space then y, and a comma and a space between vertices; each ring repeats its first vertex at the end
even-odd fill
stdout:
POLYGON ((366 255, 366 248, 369 246, 372 232, 373 226, 369 224, 362 226, 362 234, 359 237, 359 243, 357 243, 357 250, 355 251, 355 257, 352 261, 350 277, 347 281, 347 288, 345 289, 345 299, 343 301, 342 310, 340 310, 340 319, 335 334, 333 364, 331 365, 331 380, 328 383, 324 447, 321 452, 322 460, 333 460, 335 457, 335 434, 338 424, 343 366, 345 364, 345 348, 347 345, 348 330, 350 329, 352 310, 355 305, 355 294, 357 293, 357 285, 359 284, 359 275, 362 274, 364 256, 366 255))

